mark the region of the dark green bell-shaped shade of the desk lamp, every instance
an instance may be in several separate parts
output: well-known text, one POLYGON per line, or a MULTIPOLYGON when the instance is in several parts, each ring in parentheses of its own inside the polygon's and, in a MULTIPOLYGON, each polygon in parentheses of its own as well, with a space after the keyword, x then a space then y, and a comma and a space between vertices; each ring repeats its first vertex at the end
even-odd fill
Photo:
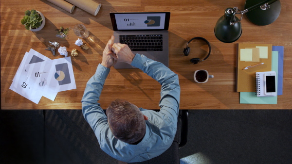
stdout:
POLYGON ((218 19, 214 28, 217 39, 224 43, 237 41, 242 33, 241 23, 237 22, 234 25, 230 25, 230 22, 235 22, 237 20, 238 18, 235 16, 235 10, 233 8, 227 8, 224 16, 218 19))

